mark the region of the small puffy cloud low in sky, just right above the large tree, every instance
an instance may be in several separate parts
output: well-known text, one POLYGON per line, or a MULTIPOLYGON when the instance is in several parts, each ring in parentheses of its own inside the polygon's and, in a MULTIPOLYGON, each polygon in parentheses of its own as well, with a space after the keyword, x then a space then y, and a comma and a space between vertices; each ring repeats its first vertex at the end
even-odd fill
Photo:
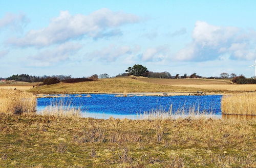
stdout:
POLYGON ((167 58, 168 48, 165 46, 150 47, 142 54, 142 61, 153 62, 162 61, 167 58))

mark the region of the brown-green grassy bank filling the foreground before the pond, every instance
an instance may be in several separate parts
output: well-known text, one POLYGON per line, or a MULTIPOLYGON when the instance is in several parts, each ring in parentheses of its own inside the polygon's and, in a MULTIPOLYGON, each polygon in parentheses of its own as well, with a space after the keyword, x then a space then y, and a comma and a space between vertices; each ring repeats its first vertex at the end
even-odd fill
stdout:
POLYGON ((0 165, 254 167, 252 121, 0 114, 0 165))

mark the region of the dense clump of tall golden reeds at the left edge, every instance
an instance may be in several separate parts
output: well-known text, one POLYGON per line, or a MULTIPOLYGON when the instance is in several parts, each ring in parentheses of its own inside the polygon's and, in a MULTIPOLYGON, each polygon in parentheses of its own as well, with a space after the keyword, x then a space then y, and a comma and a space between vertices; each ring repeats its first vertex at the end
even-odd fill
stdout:
POLYGON ((22 91, 0 89, 0 112, 11 114, 34 113, 36 96, 22 91))

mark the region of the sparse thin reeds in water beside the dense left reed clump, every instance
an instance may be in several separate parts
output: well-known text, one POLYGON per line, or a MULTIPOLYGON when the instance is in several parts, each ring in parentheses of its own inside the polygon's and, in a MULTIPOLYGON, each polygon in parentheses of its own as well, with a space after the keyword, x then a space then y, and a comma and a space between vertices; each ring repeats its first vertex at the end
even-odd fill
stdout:
POLYGON ((51 104, 46 106, 45 109, 38 111, 42 116, 56 116, 56 117, 81 117, 80 107, 74 107, 71 105, 72 99, 55 99, 51 101, 51 104))

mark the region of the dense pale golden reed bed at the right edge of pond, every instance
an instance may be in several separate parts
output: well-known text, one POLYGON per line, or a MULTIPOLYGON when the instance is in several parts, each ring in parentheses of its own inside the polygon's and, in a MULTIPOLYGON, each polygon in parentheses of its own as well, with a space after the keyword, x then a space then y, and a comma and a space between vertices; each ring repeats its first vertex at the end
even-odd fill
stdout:
POLYGON ((221 100, 223 114, 256 115, 256 93, 225 95, 221 100))

